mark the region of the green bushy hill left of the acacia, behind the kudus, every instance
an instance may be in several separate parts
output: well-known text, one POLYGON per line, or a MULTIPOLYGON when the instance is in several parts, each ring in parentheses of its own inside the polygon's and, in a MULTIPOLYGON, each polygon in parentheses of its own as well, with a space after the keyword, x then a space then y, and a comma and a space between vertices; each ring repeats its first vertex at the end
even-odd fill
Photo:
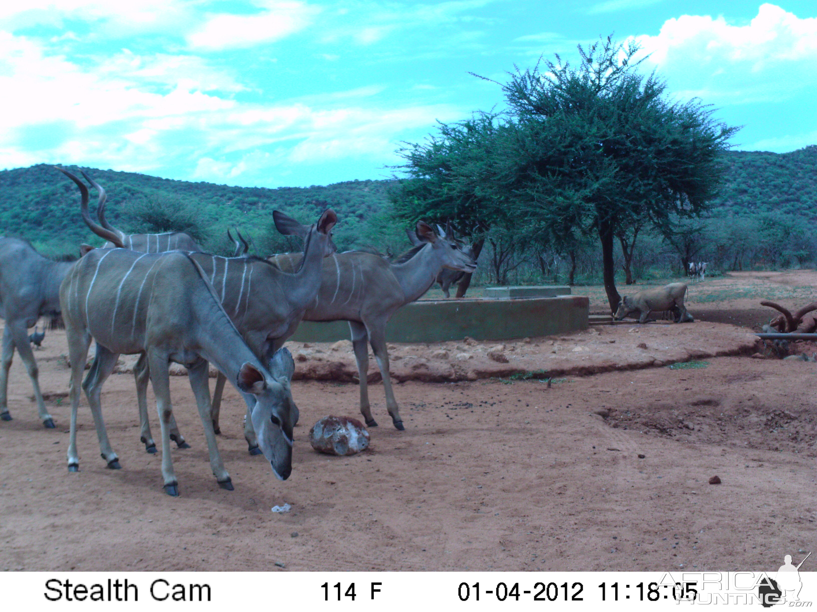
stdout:
MULTIPOLYGON (((79 175, 77 166, 65 166, 79 175)), ((81 168, 108 193, 106 217, 126 232, 167 231, 152 227, 145 211, 166 209, 187 216, 203 234, 203 245, 213 251, 230 252, 227 228, 238 227, 253 238, 260 254, 295 243, 282 242, 272 223, 272 211, 280 210, 302 223, 314 223, 331 207, 342 221, 335 231, 340 249, 368 245, 365 228, 377 221, 386 206, 386 190, 392 181, 353 180, 309 188, 243 188, 211 183, 159 179, 134 172, 81 168)), ((0 171, 0 232, 27 238, 47 254, 75 252, 80 242, 99 244, 79 214, 79 192, 67 177, 52 166, 0 171)), ((92 191, 92 206, 96 193, 92 191)), ((161 225, 161 220, 159 220, 161 225)))

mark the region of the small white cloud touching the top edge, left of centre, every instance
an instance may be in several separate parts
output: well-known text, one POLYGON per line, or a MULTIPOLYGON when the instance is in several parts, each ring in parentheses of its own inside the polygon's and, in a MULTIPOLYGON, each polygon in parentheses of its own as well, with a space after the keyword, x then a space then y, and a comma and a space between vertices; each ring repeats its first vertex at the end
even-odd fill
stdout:
POLYGON ((201 28, 187 35, 187 42, 203 51, 256 47, 306 28, 319 12, 319 7, 303 2, 265 2, 255 15, 208 16, 201 28))

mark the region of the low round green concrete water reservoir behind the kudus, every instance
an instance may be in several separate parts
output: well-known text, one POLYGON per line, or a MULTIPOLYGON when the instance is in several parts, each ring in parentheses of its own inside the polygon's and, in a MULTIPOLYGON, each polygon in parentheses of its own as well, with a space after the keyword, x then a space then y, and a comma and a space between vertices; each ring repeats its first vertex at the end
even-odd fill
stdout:
MULTIPOLYGON (((446 342, 530 338, 586 330, 590 300, 582 295, 530 299, 424 299, 400 308, 388 326, 389 342, 446 342)), ((296 342, 349 339, 345 321, 301 322, 296 342)))

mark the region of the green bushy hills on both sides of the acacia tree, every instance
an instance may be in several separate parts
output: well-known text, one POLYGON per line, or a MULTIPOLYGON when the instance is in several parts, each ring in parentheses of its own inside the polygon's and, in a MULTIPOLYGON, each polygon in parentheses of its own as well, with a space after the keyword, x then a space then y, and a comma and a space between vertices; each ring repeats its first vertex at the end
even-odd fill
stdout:
MULTIPOLYGON (((796 220, 808 233, 817 218, 817 145, 792 153, 731 151, 713 221, 759 216, 796 220), (805 223, 801 223, 801 221, 805 223)), ((78 174, 75 166, 66 169, 78 174)), ((309 188, 247 188, 159 179, 134 172, 83 168, 108 192, 107 217, 126 232, 167 231, 192 224, 210 251, 230 253, 227 228, 238 227, 253 240, 254 253, 296 248, 279 236, 272 211, 313 223, 324 208, 339 217, 335 242, 340 250, 374 246, 401 251, 403 228, 390 217, 392 180, 353 180, 309 188), (159 213, 167 214, 159 214, 159 213), (169 218, 166 218, 169 217, 169 218)), ((76 253, 81 242, 100 244, 79 215, 76 186, 45 164, 0 171, 0 233, 25 237, 47 255, 76 253)), ((93 192, 92 192, 93 193, 93 192)), ((96 196, 92 204, 96 203, 96 196)))

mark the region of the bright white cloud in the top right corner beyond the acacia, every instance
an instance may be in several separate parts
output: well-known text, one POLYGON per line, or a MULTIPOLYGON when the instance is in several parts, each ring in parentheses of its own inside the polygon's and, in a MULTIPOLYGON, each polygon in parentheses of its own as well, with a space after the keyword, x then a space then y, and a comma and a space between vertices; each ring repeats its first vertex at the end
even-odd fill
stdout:
POLYGON ((800 19, 763 4, 747 25, 723 17, 667 20, 658 36, 641 36, 645 62, 672 91, 705 102, 781 100, 817 84, 817 18, 800 19))

